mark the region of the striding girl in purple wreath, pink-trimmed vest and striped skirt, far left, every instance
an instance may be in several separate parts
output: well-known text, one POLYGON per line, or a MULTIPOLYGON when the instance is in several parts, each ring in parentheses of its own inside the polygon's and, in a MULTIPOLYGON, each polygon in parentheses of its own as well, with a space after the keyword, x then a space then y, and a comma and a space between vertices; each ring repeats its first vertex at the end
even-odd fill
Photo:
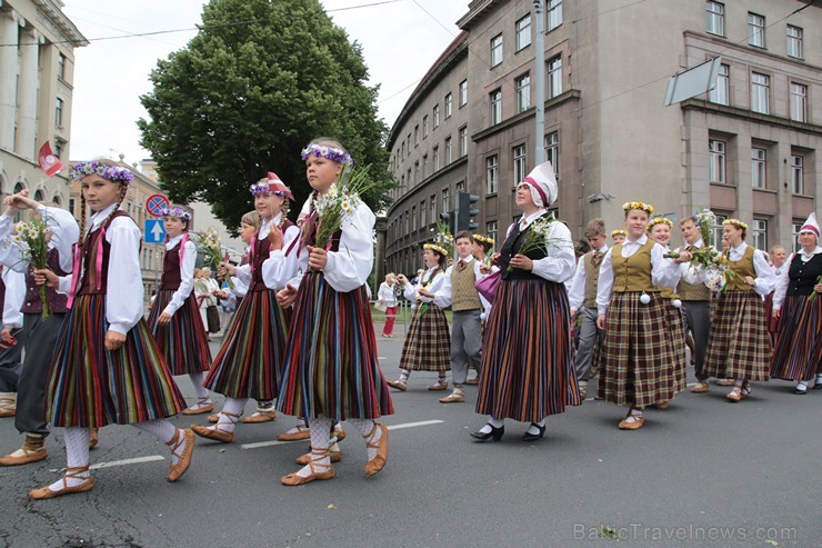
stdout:
POLYGON ((58 278, 51 270, 34 270, 38 283, 69 295, 47 395, 51 426, 66 428, 68 467, 61 479, 31 491, 33 499, 94 486, 89 476, 92 427, 133 424, 160 438, 171 447, 169 481, 188 470, 194 446, 190 430, 167 419, 184 400, 142 317, 141 233, 120 209, 134 176, 98 160, 74 163, 73 177, 82 188, 81 233, 86 205, 94 211, 88 233, 74 247, 73 272, 58 278))

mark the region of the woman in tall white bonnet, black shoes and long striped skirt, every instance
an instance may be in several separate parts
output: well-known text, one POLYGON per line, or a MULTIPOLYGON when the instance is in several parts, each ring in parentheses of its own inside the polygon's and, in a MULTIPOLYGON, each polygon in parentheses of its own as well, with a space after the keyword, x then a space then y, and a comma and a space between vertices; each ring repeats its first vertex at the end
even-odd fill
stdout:
POLYGON ((474 439, 499 441, 504 419, 530 422, 523 441, 545 434, 545 419, 581 403, 571 352, 571 316, 563 282, 573 276, 571 231, 550 219, 558 198, 551 162, 517 186, 519 225, 511 225, 493 262, 500 285, 485 325, 477 412, 488 422, 474 439))

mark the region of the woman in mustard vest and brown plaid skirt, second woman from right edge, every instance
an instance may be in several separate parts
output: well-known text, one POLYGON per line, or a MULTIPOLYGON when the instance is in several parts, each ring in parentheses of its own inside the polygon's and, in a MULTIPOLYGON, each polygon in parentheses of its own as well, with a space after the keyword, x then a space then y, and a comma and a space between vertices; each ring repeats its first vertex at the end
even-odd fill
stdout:
POLYGON ((716 299, 705 375, 733 379, 728 399, 742 401, 751 395, 752 380, 768 380, 771 370, 771 336, 762 298, 774 283, 765 253, 745 243, 748 225, 738 219, 722 223, 722 243, 730 262, 726 286, 716 299))

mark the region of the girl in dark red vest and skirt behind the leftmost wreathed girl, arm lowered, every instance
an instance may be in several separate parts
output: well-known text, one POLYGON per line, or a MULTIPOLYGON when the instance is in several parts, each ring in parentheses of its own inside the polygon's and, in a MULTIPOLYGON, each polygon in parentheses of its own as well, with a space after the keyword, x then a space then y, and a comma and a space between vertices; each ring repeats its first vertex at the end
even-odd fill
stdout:
POLYGON ((197 403, 182 414, 200 415, 213 410, 214 403, 202 386, 204 371, 211 365, 211 350, 192 291, 197 246, 189 239, 191 213, 176 207, 162 210, 161 215, 168 239, 162 278, 148 325, 171 375, 188 375, 197 390, 197 403))

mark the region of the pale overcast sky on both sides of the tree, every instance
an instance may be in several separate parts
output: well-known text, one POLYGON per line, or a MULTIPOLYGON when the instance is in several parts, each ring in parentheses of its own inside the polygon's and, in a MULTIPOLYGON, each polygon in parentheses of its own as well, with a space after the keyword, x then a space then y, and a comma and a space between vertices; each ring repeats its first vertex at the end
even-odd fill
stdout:
MULTIPOLYGON (((282 0, 288 1, 288 0, 282 0)), ((324 0, 334 22, 362 44, 370 83, 380 83, 380 114, 391 126, 419 79, 454 39, 469 0, 324 0), (339 11, 334 11, 339 10, 339 11), (428 11, 428 13, 427 13, 428 11)), ((196 31, 94 41, 94 38, 189 29, 201 22, 202 0, 64 0, 63 12, 90 40, 74 50, 71 160, 150 155, 139 145, 140 96, 151 91, 157 60, 186 47, 196 31), (112 84, 111 82, 117 82, 112 84)))

